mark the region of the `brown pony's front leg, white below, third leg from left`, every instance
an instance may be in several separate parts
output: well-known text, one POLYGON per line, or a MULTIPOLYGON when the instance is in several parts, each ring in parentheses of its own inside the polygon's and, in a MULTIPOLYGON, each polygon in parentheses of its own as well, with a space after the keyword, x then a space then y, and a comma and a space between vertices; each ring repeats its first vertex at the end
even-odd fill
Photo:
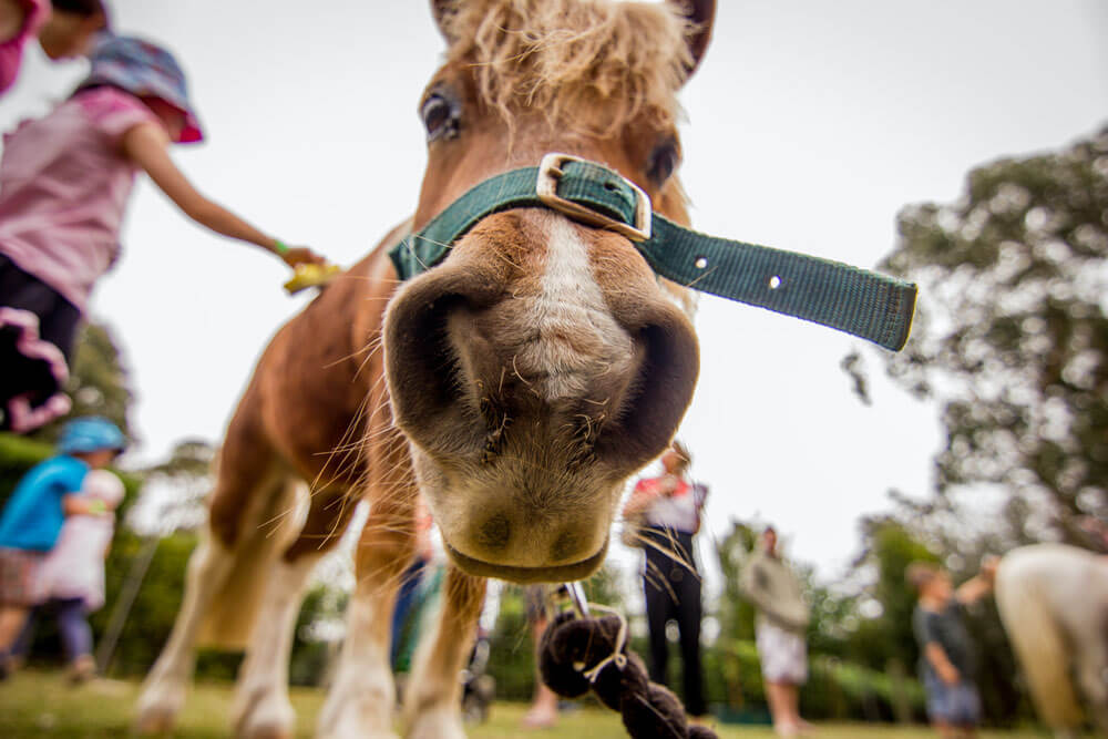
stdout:
POLYGON ((394 739, 396 685, 389 661, 392 608, 416 553, 414 489, 373 501, 355 557, 357 585, 347 608, 339 666, 319 715, 326 739, 394 739))

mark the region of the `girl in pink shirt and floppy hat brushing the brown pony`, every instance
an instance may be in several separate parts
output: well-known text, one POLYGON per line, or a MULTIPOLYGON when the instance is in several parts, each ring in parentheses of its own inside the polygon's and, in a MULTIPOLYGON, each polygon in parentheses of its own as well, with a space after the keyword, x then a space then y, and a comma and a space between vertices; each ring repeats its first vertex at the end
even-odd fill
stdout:
POLYGON ((319 264, 203 196, 170 158, 201 141, 185 76, 165 50, 113 37, 76 92, 4 136, 0 160, 0 430, 31 431, 68 411, 68 358, 89 295, 119 258, 135 175, 145 172, 198 224, 319 264))

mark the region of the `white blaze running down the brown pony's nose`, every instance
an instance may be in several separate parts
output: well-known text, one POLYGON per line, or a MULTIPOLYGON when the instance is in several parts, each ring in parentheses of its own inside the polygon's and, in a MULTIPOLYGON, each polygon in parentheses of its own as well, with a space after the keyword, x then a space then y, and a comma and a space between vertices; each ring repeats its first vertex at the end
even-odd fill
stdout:
POLYGON ((534 330, 516 369, 538 378, 532 390, 553 401, 586 394, 592 378, 626 361, 632 342, 608 311, 578 228, 554 214, 542 219, 548 235, 546 268, 527 306, 534 330))

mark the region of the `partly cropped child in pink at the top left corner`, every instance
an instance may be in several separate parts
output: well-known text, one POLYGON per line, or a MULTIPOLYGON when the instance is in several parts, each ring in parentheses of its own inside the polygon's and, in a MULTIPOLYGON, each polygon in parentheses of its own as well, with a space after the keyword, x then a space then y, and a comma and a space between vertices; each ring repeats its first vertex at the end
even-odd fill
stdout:
POLYGON ((0 94, 16 82, 31 39, 50 59, 70 59, 89 53, 106 29, 103 0, 0 0, 0 94))

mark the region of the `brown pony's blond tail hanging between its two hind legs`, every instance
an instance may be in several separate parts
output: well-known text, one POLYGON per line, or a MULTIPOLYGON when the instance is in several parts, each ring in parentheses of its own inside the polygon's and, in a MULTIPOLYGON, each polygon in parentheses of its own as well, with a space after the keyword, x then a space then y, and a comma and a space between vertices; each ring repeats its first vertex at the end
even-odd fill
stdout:
POLYGON ((243 514, 242 536, 230 551, 230 572, 204 613, 199 646, 227 651, 247 648, 273 565, 302 527, 309 503, 302 482, 280 480, 258 492, 243 514))

